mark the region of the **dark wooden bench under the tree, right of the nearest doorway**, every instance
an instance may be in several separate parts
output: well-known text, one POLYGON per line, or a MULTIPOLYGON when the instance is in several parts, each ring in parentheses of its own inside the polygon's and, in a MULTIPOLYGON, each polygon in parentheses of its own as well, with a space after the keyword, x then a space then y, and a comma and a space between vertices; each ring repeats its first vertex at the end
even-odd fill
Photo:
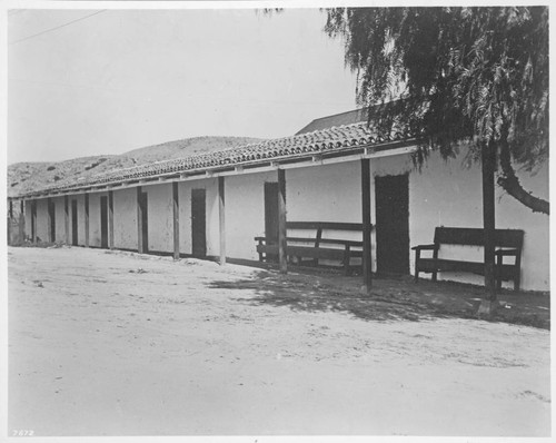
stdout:
MULTIPOLYGON (((523 236, 524 232, 520 229, 496 229, 495 232, 495 247, 499 247, 495 252, 495 278, 498 288, 502 287, 503 280, 514 280, 514 289, 519 291, 523 236), (505 257, 514 257, 514 263, 504 263, 505 257)), ((431 273, 433 282, 436 282, 437 274, 443 270, 464 270, 485 275, 484 262, 438 258, 440 245, 484 247, 484 230, 480 228, 437 227, 434 244, 411 248, 415 250, 415 280, 418 282, 419 273, 431 273), (421 250, 431 250, 433 257, 421 257, 421 250)))

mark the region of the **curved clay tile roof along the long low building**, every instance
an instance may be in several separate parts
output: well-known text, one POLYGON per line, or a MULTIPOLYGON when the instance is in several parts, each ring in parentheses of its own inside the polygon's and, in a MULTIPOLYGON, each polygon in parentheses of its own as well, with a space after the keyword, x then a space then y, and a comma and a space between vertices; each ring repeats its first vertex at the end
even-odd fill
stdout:
POLYGON ((87 179, 59 184, 27 196, 49 191, 63 191, 76 188, 119 184, 132 179, 147 179, 157 176, 182 173, 203 173, 222 167, 237 167, 269 161, 310 157, 316 154, 348 154, 350 150, 380 145, 388 141, 414 138, 414 135, 395 130, 389 135, 376 134, 366 121, 334 126, 274 140, 226 148, 215 152, 192 155, 187 158, 155 161, 148 165, 117 169, 87 179))

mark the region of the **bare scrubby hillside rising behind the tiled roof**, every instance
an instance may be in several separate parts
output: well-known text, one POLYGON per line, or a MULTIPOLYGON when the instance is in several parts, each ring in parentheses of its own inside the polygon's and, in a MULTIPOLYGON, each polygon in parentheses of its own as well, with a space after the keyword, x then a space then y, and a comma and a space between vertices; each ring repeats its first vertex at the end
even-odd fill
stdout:
POLYGON ((129 168, 152 161, 185 158, 247 145, 259 139, 249 137, 195 137, 133 149, 121 155, 80 157, 64 161, 18 163, 8 166, 8 197, 73 181, 109 170, 129 168))

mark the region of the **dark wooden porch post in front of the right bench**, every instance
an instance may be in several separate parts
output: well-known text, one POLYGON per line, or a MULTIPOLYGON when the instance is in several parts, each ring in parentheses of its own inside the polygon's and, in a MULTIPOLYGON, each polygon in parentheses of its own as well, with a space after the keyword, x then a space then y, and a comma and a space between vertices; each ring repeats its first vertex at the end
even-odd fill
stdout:
POLYGON ((483 228, 485 229, 485 298, 496 301, 495 279, 495 184, 496 150, 494 144, 483 146, 483 228))

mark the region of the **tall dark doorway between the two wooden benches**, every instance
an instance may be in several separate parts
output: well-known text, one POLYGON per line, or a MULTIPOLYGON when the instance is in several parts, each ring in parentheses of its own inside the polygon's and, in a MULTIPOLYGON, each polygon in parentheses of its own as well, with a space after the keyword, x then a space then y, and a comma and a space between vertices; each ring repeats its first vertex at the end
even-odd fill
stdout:
POLYGON ((409 175, 375 178, 378 274, 409 274, 409 175))

